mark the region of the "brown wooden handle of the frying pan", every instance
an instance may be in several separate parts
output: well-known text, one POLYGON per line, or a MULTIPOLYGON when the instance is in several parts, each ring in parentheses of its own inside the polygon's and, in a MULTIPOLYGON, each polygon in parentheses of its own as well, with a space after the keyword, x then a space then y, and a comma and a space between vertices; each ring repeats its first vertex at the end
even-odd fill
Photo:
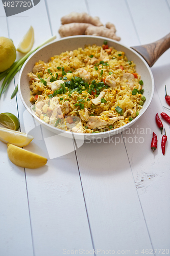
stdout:
POLYGON ((131 47, 152 67, 156 60, 170 47, 170 33, 149 45, 131 47))

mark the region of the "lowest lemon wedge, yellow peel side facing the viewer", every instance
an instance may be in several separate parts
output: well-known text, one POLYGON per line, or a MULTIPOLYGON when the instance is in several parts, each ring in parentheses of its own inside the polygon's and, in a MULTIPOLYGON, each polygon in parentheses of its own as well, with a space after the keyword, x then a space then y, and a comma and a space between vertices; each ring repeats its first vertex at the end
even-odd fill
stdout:
POLYGON ((21 147, 7 144, 8 157, 12 163, 23 168, 39 168, 46 164, 47 159, 35 153, 27 150, 23 150, 21 147))

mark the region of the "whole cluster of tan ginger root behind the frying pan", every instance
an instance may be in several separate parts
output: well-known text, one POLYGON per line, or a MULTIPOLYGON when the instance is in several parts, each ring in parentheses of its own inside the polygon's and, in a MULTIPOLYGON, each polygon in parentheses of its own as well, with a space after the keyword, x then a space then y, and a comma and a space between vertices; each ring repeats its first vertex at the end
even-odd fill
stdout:
POLYGON ((106 27, 100 22, 98 17, 91 17, 87 13, 71 12, 61 18, 62 26, 59 28, 59 34, 61 37, 72 35, 96 35, 108 37, 113 40, 120 40, 120 37, 116 36, 115 26, 108 22, 106 27))

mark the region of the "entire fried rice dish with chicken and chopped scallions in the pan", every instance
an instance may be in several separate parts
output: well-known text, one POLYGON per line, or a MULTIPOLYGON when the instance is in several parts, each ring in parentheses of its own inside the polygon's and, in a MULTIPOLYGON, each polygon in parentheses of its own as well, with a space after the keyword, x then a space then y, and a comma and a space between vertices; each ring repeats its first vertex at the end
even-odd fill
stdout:
POLYGON ((107 42, 39 60, 28 76, 35 115, 65 131, 117 129, 138 116, 145 100, 135 63, 107 42))

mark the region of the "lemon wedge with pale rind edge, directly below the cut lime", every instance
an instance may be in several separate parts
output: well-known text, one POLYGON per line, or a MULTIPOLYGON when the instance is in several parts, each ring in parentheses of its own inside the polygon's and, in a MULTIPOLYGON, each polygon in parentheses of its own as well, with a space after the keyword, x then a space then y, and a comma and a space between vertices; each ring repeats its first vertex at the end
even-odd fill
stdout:
POLYGON ((4 143, 10 143, 15 146, 27 146, 32 140, 33 136, 18 131, 12 131, 0 127, 0 140, 4 143))

